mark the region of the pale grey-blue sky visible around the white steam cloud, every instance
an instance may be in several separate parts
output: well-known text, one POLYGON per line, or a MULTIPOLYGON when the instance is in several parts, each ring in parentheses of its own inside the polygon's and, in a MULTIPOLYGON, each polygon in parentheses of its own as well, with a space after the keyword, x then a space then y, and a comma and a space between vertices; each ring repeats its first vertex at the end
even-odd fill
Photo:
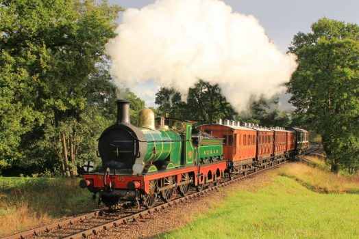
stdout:
MULTIPOLYGON (((178 0, 180 1, 180 0, 178 0)), ((253 15, 260 25, 264 27, 267 36, 277 45, 282 52, 286 52, 293 36, 299 31, 309 32, 310 25, 319 18, 327 17, 342 20, 346 23, 359 24, 359 0, 223 0, 230 5, 234 12, 253 15)), ((154 0, 111 0, 123 8, 143 8, 153 3, 154 0)), ((121 23, 121 14, 119 16, 121 23)), ((139 86, 140 87, 140 86, 139 86)), ((149 80, 145 84, 146 91, 140 98, 146 102, 146 106, 154 106, 154 97, 158 89, 149 80)), ((290 109, 286 104, 289 96, 282 96, 280 104, 283 109, 290 109)))

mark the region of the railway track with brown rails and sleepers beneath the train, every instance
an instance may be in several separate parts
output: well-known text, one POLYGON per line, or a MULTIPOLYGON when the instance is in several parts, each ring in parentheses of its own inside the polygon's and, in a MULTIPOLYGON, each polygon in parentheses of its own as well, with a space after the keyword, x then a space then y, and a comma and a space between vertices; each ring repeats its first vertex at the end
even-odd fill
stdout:
MULTIPOLYGON (((319 150, 320 146, 316 145, 315 147, 311 147, 305 153, 310 154, 319 150)), ((302 156, 298 156, 301 158, 302 156)), ((262 173, 269 169, 273 169, 282 165, 288 161, 283 161, 281 163, 277 163, 271 167, 267 167, 265 169, 260 169, 257 171, 253 171, 247 175, 241 175, 232 180, 226 180, 225 182, 221 182, 216 186, 211 186, 210 188, 203 189, 203 191, 196 192, 191 191, 189 195, 185 197, 177 197, 173 201, 168 203, 158 203, 157 206, 154 206, 151 209, 141 209, 138 208, 129 208, 125 210, 121 210, 120 212, 110 212, 106 210, 96 210, 94 212, 90 212, 87 214, 82 214, 79 216, 75 216, 71 219, 66 219, 64 221, 60 221, 57 223, 52 223, 50 225, 46 225, 43 227, 38 227, 36 229, 31 229, 28 231, 23 231, 18 234, 14 234, 12 236, 7 236, 3 239, 24 239, 24 238, 67 238, 67 239, 77 239, 77 238, 87 238, 91 235, 100 234, 101 231, 110 229, 111 227, 117 227, 121 224, 127 224, 129 222, 136 222, 137 219, 143 218, 146 214, 152 214, 153 212, 158 212, 163 210, 164 208, 171 207, 173 205, 177 205, 177 203, 182 203, 183 201, 187 201, 189 199, 193 199, 195 197, 200 197, 201 195, 205 195, 206 193, 210 193, 212 191, 218 190, 224 186, 232 184, 234 182, 239 182, 240 180, 244 180, 246 178, 252 178, 254 175, 258 173, 262 173)))

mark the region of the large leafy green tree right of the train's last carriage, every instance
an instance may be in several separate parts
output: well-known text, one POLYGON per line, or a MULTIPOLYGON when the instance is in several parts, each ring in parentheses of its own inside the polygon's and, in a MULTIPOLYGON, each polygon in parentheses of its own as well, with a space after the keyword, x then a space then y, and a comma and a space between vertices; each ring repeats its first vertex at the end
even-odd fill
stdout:
POLYGON ((289 51, 299 64, 288 84, 302 122, 321 134, 332 166, 358 165, 359 27, 321 18, 297 33, 289 51))

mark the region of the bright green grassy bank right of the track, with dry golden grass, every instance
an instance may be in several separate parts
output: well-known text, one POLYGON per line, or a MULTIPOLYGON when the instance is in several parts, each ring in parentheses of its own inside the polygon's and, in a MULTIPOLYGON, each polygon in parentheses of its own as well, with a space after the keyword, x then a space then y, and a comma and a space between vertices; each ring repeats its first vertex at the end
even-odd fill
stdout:
POLYGON ((230 191, 213 210, 158 238, 359 238, 358 175, 290 163, 269 178, 255 190, 230 191))

